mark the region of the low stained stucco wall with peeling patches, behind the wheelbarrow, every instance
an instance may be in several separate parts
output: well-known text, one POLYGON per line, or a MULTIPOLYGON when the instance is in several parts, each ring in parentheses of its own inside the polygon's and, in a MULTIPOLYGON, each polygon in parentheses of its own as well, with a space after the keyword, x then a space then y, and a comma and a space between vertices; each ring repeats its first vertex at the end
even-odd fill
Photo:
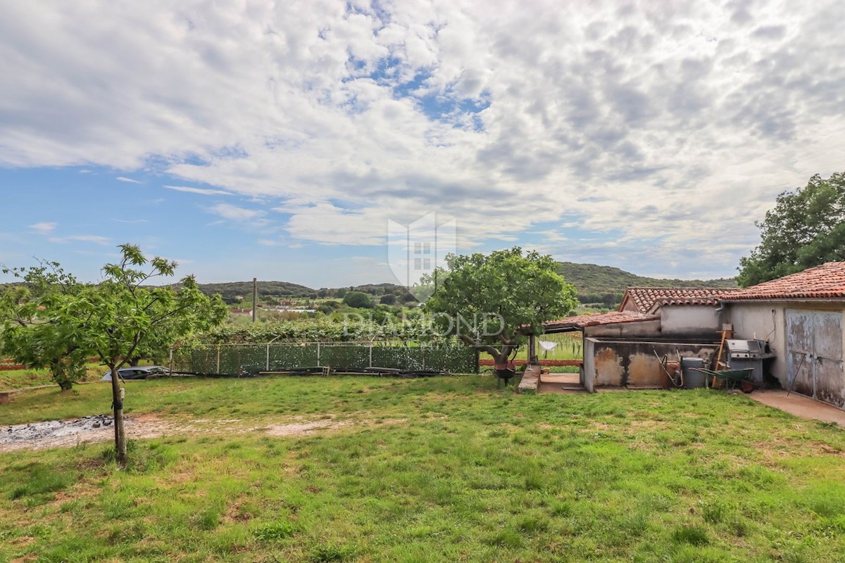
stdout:
POLYGON ((584 339, 584 387, 670 387, 660 367, 660 359, 695 356, 710 365, 718 343, 684 344, 673 342, 641 342, 584 339), (657 355, 655 354, 657 353, 657 355))

